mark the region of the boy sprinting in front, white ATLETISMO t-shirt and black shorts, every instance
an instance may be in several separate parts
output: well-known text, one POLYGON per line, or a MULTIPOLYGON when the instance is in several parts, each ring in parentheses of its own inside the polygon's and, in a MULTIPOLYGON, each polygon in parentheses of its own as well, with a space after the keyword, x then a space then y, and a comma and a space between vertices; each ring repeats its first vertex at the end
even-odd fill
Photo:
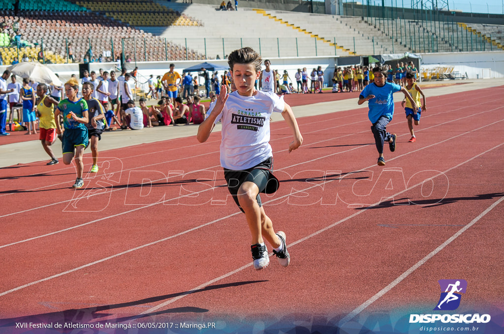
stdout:
POLYGON ((261 56, 249 47, 231 52, 228 64, 237 91, 228 95, 227 88, 222 86, 215 107, 200 125, 197 136, 200 142, 205 142, 214 125, 219 120, 222 122, 221 165, 228 190, 245 213, 256 270, 270 263, 264 239, 272 245, 280 265, 287 267, 290 263, 285 233, 275 233, 259 196, 260 193, 274 193, 279 186, 278 179, 272 174, 273 154, 269 144, 271 114, 282 113, 292 130, 294 140, 289 144, 289 152, 303 141, 292 109, 283 97, 254 88, 261 73, 261 61, 261 56))

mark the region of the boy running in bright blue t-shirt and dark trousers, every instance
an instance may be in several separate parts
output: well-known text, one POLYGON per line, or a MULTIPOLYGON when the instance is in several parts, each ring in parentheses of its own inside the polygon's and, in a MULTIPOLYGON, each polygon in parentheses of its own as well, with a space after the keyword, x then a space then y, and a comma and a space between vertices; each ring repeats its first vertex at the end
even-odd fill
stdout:
POLYGON ((368 101, 369 112, 367 116, 372 123, 371 132, 374 135, 374 142, 378 150, 378 165, 385 166, 385 158, 383 157, 383 146, 386 141, 389 142, 391 152, 396 150, 396 134, 387 132, 386 127, 394 116, 394 98, 393 94, 402 92, 404 96, 411 102, 414 110, 418 109, 415 101, 408 91, 399 85, 385 82, 387 77, 387 69, 383 67, 374 67, 374 82, 366 86, 359 96, 358 104, 361 105, 368 101))

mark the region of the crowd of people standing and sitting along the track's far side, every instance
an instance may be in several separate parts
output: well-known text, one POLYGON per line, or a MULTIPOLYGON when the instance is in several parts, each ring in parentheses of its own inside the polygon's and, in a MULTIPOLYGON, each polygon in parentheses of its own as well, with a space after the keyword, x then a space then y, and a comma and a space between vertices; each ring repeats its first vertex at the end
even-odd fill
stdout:
MULTIPOLYGON (((388 73, 387 81, 400 86, 406 85, 406 73, 411 72, 415 78, 418 77, 418 70, 411 61, 407 64, 399 62, 395 66, 384 66, 388 73)), ((228 92, 232 90, 232 77, 228 70, 219 74, 217 71, 201 68, 197 74, 182 72, 180 75, 174 68, 175 65, 170 64, 169 71, 164 75, 154 77, 151 74, 146 82, 139 82, 138 67, 131 72, 123 70, 117 76, 115 71, 109 73, 103 69, 100 69, 99 73, 84 71, 80 84, 91 82, 93 86, 92 97, 101 103, 106 120, 103 131, 199 124, 204 120, 203 116, 206 113, 204 105, 200 103, 201 97, 213 102, 212 97, 219 95, 221 86, 225 86, 228 92), (128 102, 134 100, 134 91, 139 84, 148 85, 145 98, 139 101, 140 112, 127 114, 125 111, 129 109, 128 102), (177 103, 177 98, 180 103, 177 103), (157 103, 147 107, 147 99, 155 99, 157 103)), ((328 92, 362 91, 369 82, 373 82, 373 73, 370 69, 371 67, 363 65, 337 67, 332 75, 332 89, 328 92)), ((31 113, 36 109, 33 100, 38 83, 28 79, 21 80, 23 82, 19 82, 16 75, 12 75, 11 82, 6 84, 6 88, 12 90, 8 93, 9 130, 14 131, 22 127, 27 134, 36 134, 36 117, 31 117, 31 113), (28 112, 29 109, 33 110, 28 112), (16 119, 17 123, 14 122, 16 119)), ((306 67, 298 68, 291 78, 287 70, 283 70, 283 73, 274 70, 271 61, 265 60, 264 69, 256 80, 255 87, 279 95, 322 94, 323 89, 329 86, 327 81, 322 66, 312 68, 311 71, 306 67)), ((48 90, 50 97, 55 101, 64 96, 63 87, 50 86, 48 90)), ((82 92, 78 92, 78 96, 82 96, 82 92)), ((8 132, 3 131, 0 135, 8 135, 8 132)))

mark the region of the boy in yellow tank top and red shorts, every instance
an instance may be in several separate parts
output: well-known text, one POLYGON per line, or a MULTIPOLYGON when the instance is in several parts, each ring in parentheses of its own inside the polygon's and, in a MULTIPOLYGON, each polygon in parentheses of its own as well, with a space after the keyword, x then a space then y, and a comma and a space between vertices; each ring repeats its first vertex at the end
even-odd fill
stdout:
POLYGON ((51 149, 51 145, 56 140, 56 121, 54 120, 54 106, 57 106, 58 102, 46 94, 47 85, 38 84, 38 99, 36 101, 36 108, 37 117, 40 119, 40 123, 38 125, 40 129, 39 139, 42 142, 44 151, 51 157, 51 160, 46 164, 51 165, 59 162, 51 149))

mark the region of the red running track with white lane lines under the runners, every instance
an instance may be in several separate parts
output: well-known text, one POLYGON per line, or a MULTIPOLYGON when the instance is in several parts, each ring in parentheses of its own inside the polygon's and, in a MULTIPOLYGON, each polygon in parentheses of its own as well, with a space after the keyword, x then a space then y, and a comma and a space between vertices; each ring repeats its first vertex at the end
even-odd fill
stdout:
POLYGON ((386 168, 366 108, 298 119, 304 143, 290 154, 290 130, 273 123, 282 184, 262 198, 286 231, 286 269, 274 257, 251 269, 244 217, 221 187, 218 133, 101 152, 100 173, 75 191, 72 166, 3 169, 0 317, 346 321, 432 309, 446 278, 469 282, 465 309, 498 308, 502 93, 429 98, 416 143, 396 106, 386 168))

